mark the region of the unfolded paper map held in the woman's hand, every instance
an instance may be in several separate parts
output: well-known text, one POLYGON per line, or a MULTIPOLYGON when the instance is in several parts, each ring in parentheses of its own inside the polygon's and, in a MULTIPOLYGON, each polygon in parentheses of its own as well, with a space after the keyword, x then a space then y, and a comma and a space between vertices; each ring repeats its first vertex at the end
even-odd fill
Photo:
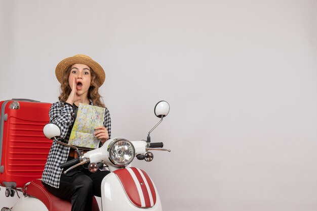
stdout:
POLYGON ((103 125, 104 113, 105 108, 80 103, 68 144, 98 148, 99 139, 95 137, 94 131, 96 127, 103 125))

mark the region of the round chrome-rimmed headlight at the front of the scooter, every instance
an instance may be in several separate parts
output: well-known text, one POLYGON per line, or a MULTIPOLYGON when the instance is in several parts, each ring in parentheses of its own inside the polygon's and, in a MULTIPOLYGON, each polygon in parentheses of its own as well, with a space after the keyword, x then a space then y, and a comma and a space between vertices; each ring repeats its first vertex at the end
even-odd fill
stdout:
POLYGON ((109 143, 108 157, 112 164, 124 167, 129 165, 135 156, 133 144, 124 138, 115 138, 109 143))

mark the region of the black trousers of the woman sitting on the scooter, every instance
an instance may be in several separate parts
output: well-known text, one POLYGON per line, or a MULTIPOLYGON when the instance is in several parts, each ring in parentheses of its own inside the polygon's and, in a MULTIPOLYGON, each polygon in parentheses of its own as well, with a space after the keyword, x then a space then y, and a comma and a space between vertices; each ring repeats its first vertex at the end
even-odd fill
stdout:
POLYGON ((66 175, 61 175, 59 188, 45 183, 43 185, 57 197, 70 200, 71 211, 90 211, 93 196, 101 197, 101 182, 109 173, 100 170, 91 173, 84 167, 78 167, 66 175))

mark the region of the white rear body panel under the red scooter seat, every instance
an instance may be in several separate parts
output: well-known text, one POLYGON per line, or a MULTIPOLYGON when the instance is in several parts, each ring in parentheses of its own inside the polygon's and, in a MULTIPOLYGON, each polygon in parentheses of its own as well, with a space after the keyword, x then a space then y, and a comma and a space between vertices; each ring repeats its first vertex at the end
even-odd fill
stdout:
POLYGON ((45 204, 37 198, 22 196, 12 207, 12 211, 48 211, 45 204))

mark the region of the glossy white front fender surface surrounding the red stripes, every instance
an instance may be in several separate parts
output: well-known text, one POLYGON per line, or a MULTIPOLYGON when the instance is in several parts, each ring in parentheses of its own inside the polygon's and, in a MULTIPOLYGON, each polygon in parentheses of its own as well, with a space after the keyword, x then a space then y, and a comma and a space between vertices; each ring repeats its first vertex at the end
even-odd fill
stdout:
MULTIPOLYGON (((153 184, 154 185, 154 184, 153 184)), ((156 203, 149 208, 140 208, 135 206, 129 199, 120 180, 114 173, 108 174, 101 183, 101 204, 102 210, 107 211, 127 211, 127 210, 146 210, 162 211, 162 204, 159 193, 156 190, 156 203)))

